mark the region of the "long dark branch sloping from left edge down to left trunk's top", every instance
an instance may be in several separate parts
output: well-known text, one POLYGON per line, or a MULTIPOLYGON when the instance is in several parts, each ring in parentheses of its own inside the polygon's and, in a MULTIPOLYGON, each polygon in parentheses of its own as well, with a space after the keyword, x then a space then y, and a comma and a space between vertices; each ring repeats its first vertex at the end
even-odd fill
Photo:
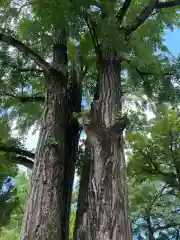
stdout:
POLYGON ((21 41, 11 37, 7 34, 0 33, 0 41, 5 42, 15 48, 17 48, 20 52, 28 56, 32 59, 45 73, 58 74, 61 78, 61 81, 64 80, 65 76, 62 72, 54 69, 48 62, 46 62, 38 53, 36 53, 33 49, 26 46, 21 41))

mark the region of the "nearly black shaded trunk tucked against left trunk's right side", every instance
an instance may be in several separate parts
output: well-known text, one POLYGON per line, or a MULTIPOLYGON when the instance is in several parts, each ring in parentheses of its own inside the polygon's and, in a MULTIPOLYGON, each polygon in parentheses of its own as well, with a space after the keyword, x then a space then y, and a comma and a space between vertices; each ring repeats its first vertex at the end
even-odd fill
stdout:
POLYGON ((77 149, 80 137, 80 126, 76 118, 72 117, 73 112, 81 111, 82 92, 78 84, 76 73, 72 78, 72 85, 69 87, 69 123, 66 129, 66 161, 64 174, 64 214, 62 225, 64 225, 63 240, 69 240, 69 218, 71 209, 72 187, 74 181, 75 164, 77 159, 77 149))

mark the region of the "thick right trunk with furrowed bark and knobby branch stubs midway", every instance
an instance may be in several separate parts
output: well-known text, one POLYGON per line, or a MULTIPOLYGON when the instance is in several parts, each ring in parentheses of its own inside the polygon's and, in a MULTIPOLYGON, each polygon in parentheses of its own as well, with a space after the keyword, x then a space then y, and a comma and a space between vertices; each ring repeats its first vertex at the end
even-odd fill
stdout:
POLYGON ((88 196, 88 236, 100 240, 130 240, 122 116, 121 62, 104 57, 100 66, 99 100, 85 125, 93 151, 88 196))

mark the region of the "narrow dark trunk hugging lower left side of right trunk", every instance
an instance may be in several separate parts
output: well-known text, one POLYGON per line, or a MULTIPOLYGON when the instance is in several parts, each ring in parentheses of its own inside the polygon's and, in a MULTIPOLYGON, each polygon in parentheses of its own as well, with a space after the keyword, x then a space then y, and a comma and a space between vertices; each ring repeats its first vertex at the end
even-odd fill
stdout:
POLYGON ((84 228, 87 228, 86 225, 86 215, 88 211, 88 186, 89 186, 89 177, 90 177, 90 166, 91 166, 91 149, 89 143, 86 139, 85 142, 85 155, 83 159, 83 166, 81 169, 81 177, 79 184, 79 195, 76 211, 76 220, 74 226, 74 240, 87 240, 84 239, 84 228))

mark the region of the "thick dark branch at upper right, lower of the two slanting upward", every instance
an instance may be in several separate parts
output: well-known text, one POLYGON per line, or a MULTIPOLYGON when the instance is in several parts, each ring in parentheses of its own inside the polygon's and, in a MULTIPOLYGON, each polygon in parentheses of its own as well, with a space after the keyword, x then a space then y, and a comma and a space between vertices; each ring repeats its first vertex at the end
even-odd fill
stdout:
POLYGON ((125 27, 126 35, 134 32, 141 24, 143 24, 146 19, 151 15, 153 10, 156 8, 158 0, 151 0, 150 3, 143 9, 143 11, 136 17, 136 19, 125 27))

